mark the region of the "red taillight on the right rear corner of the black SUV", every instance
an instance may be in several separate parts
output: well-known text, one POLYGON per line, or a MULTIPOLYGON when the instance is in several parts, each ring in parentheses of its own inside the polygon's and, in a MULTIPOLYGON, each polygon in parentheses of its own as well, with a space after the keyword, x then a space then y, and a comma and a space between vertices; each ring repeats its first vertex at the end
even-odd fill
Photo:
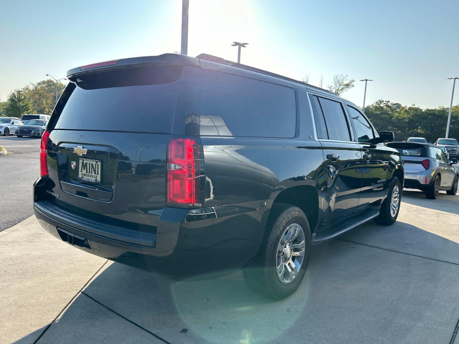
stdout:
POLYGON ((195 147, 193 139, 171 139, 167 161, 168 205, 196 203, 195 147))

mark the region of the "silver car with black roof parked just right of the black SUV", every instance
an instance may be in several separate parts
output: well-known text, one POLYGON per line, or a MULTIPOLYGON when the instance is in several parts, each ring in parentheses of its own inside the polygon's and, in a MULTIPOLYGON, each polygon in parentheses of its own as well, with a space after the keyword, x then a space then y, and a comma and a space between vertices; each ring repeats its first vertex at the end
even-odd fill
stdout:
POLYGON ((402 155, 405 166, 405 188, 419 189, 425 197, 436 199, 438 191, 446 190, 455 195, 458 190, 459 172, 455 158, 448 158, 433 144, 391 142, 387 144, 402 155))

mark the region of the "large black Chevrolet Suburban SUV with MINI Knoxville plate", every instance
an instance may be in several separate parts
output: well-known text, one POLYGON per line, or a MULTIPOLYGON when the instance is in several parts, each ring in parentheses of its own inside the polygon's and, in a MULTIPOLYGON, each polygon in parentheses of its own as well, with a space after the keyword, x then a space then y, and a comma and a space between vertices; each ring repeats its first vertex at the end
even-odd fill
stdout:
POLYGON ((336 94, 202 54, 68 71, 34 213, 81 250, 171 277, 242 267, 281 299, 311 244, 396 221, 403 162, 336 94))

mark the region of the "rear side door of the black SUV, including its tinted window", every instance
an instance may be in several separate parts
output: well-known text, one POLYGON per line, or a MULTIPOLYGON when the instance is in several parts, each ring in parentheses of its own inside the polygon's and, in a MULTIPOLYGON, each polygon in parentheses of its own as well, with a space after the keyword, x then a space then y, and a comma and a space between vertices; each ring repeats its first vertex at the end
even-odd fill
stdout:
POLYGON ((362 186, 362 153, 353 141, 343 104, 309 93, 327 175, 324 225, 357 210, 362 186))

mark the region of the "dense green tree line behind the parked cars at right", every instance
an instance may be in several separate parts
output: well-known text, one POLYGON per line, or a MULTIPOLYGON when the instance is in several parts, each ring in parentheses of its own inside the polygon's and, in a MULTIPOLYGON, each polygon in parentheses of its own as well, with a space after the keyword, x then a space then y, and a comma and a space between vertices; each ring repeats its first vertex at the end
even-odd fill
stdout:
MULTIPOLYGON (((435 143, 445 137, 449 108, 421 109, 417 106, 402 106, 387 100, 378 100, 365 107, 377 130, 391 130, 396 141, 403 141, 410 136, 424 137, 427 142, 435 143)), ((453 106, 450 138, 459 139, 459 105, 453 106)))

